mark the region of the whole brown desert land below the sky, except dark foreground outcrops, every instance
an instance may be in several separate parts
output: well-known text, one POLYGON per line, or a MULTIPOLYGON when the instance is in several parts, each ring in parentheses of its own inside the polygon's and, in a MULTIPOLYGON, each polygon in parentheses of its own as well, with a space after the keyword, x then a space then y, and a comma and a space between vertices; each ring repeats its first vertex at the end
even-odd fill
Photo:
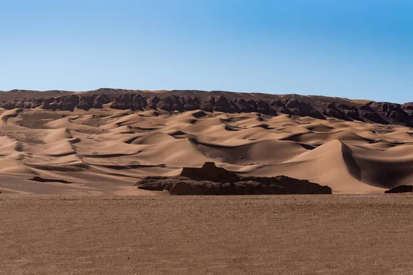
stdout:
POLYGON ((0 92, 0 274, 412 274, 413 104, 75 94, 0 92), (206 162, 333 195, 136 186, 206 162))

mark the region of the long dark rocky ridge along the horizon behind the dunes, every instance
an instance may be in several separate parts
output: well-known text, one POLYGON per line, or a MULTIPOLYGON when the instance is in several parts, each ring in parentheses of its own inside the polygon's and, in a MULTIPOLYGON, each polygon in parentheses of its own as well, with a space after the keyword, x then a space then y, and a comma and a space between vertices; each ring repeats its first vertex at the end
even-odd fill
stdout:
POLYGON ((226 91, 153 91, 98 89, 87 92, 24 91, 0 92, 0 107, 4 109, 32 109, 85 111, 112 109, 162 109, 169 112, 221 111, 224 113, 262 113, 263 115, 292 115, 325 120, 338 118, 380 124, 413 126, 413 102, 396 104, 329 98, 325 96, 248 94, 226 91))

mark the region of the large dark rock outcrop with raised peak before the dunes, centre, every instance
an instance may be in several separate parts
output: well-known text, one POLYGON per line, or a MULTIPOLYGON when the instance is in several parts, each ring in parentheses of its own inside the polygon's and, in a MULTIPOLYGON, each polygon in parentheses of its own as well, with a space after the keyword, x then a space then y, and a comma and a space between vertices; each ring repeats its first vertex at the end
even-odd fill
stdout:
POLYGON ((136 184, 171 195, 331 194, 331 188, 310 181, 278 177, 241 177, 207 162, 202 168, 182 168, 176 177, 145 177, 136 184))

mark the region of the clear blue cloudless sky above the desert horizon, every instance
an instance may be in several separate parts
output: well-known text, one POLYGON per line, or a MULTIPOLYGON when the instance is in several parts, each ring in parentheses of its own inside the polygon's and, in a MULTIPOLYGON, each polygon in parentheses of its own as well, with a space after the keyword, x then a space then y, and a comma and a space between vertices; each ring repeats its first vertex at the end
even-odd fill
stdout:
POLYGON ((0 90, 413 101, 410 0, 0 0, 0 90))

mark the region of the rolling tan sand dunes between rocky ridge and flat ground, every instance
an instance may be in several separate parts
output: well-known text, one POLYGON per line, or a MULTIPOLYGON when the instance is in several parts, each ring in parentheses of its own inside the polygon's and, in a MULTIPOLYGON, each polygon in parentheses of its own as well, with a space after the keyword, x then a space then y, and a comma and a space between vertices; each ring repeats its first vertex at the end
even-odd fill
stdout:
POLYGON ((287 175, 339 193, 410 184, 413 130, 405 126, 259 113, 92 109, 1 111, 2 192, 151 194, 133 184, 218 166, 287 175), (37 176, 73 184, 28 181, 37 176))

